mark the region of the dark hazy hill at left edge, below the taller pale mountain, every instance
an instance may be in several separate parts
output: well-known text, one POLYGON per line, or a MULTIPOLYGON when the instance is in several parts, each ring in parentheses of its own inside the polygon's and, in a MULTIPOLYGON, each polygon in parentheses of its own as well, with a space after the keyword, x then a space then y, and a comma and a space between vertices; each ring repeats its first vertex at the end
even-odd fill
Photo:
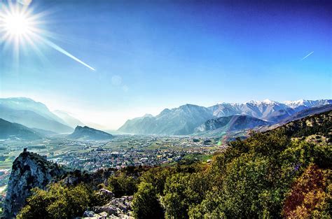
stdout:
POLYGON ((41 135, 18 123, 8 122, 0 118, 0 139, 41 139, 41 135))

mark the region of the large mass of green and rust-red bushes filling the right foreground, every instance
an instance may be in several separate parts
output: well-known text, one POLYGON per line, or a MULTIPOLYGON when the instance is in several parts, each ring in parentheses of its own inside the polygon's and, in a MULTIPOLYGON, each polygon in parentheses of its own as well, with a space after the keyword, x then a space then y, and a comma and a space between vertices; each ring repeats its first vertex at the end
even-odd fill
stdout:
POLYGON ((328 218, 331 157, 331 146, 279 129, 233 141, 206 167, 154 168, 141 181, 153 185, 152 196, 158 191, 165 218, 328 218))

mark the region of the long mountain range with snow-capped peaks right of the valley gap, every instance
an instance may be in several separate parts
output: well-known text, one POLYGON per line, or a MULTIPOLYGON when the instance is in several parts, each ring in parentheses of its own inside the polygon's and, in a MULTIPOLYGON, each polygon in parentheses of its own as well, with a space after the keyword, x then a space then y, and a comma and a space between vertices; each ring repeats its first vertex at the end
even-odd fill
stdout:
POLYGON ((283 103, 265 99, 247 101, 243 104, 222 103, 210 107, 186 104, 178 108, 166 108, 156 116, 147 114, 141 118, 127 120, 118 131, 131 134, 165 135, 194 134, 201 132, 200 130, 211 132, 211 127, 214 127, 213 130, 220 129, 224 122, 230 122, 232 119, 224 117, 247 115, 247 118, 233 118, 233 120, 243 120, 246 123, 243 127, 233 125, 231 130, 236 131, 244 127, 254 128, 276 124, 291 118, 300 111, 330 104, 332 104, 331 99, 284 101, 283 103), (207 127, 209 130, 205 130, 207 127))

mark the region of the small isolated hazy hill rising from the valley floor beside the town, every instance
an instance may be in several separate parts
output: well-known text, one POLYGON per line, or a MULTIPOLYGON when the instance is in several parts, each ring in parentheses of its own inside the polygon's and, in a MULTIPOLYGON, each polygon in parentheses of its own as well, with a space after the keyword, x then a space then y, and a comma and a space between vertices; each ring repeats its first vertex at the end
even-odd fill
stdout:
POLYGON ((69 134, 68 138, 76 140, 109 140, 113 139, 113 135, 87 126, 81 127, 78 125, 75 131, 69 134))

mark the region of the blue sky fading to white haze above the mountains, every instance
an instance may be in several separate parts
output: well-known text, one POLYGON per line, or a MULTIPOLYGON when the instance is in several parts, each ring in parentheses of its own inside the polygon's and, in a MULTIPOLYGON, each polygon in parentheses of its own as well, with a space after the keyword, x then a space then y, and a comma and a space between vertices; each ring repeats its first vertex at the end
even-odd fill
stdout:
POLYGON ((331 99, 332 3, 263 2, 34 0, 50 40, 96 71, 37 40, 14 62, 2 42, 0 96, 110 129, 187 103, 331 99))

